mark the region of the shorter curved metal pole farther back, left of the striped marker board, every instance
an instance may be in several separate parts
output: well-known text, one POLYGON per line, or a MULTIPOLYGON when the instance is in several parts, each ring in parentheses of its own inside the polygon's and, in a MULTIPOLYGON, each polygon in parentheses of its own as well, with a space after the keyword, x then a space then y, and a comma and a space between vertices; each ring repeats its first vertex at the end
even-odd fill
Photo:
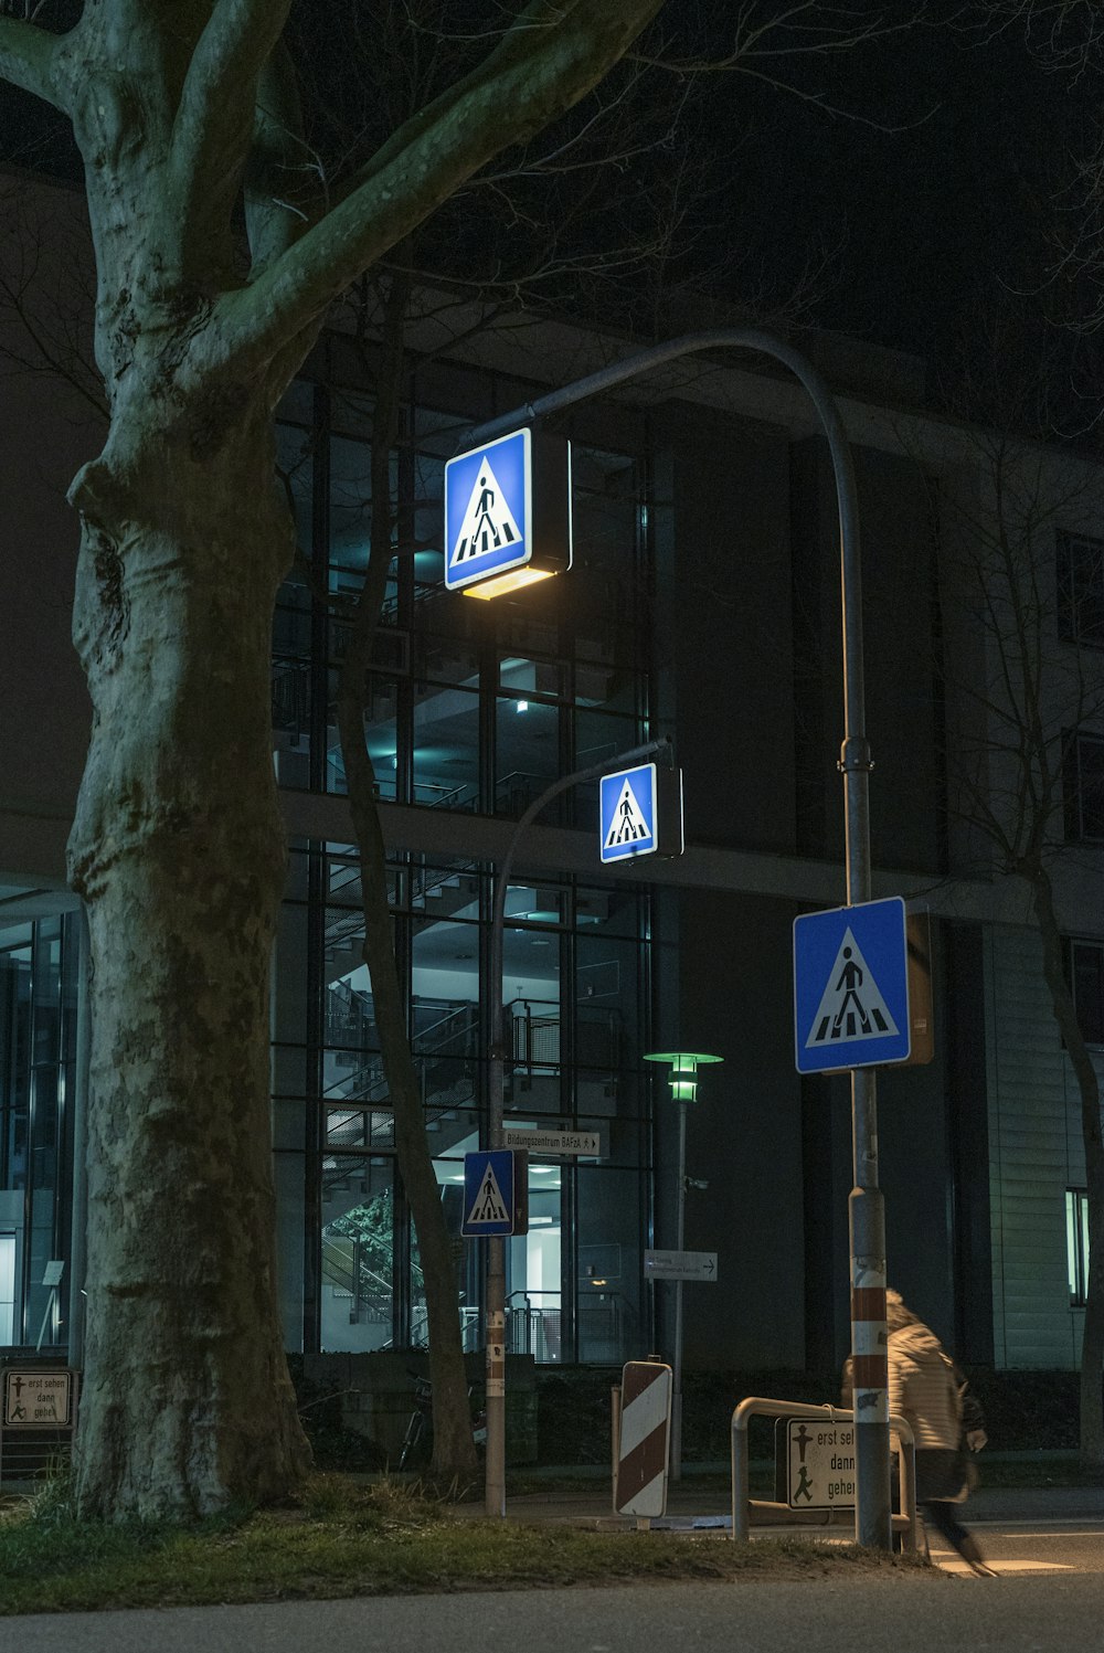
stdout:
MULTIPOLYGON (((529 826, 540 810, 585 780, 597 780, 618 764, 636 764, 645 757, 664 754, 671 762, 671 742, 664 736, 659 741, 646 741, 628 752, 608 757, 602 764, 590 764, 577 769, 570 775, 562 775, 529 805, 521 817, 506 855, 497 868, 494 881, 494 911, 491 914, 489 967, 489 1031, 491 1050, 488 1065, 488 1147, 502 1147, 502 1114, 506 1106, 506 1017, 502 1007, 502 934, 506 929, 506 891, 509 889, 514 851, 526 826, 529 826)), ((506 1516, 506 1241, 496 1235, 486 1241, 488 1278, 486 1278, 486 1398, 488 1398, 488 1455, 486 1455, 486 1514, 493 1519, 506 1516)))

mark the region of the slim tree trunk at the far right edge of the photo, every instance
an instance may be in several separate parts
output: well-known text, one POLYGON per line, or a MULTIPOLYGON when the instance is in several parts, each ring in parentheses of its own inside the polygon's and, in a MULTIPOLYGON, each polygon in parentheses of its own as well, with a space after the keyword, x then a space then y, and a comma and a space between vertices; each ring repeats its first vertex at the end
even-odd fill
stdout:
POLYGON ((1043 972, 1054 1020, 1073 1063, 1081 1093, 1081 1136, 1089 1203, 1089 1291, 1081 1342, 1081 1461, 1104 1468, 1104 1146, 1101 1144, 1101 1086, 1078 1025, 1078 1012, 1063 969, 1063 942, 1054 914, 1049 874, 1036 865, 1030 873, 1035 916, 1043 937, 1043 972))

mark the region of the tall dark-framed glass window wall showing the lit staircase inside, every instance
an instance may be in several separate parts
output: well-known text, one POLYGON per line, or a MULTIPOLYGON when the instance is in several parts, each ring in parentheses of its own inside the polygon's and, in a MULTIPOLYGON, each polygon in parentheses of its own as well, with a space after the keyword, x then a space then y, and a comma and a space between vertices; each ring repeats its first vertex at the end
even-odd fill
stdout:
MULTIPOLYGON (((331 593, 355 595, 372 507, 370 400, 319 387, 283 415, 301 541, 326 567, 331 593)), ((575 448, 570 580, 473 603, 441 587, 441 479, 458 428, 453 415, 405 413, 390 468, 393 549, 402 554, 390 567, 364 711, 380 798, 456 817, 454 858, 397 853, 388 869, 430 1152, 456 1236, 463 1155, 486 1141, 493 894, 493 868, 463 855, 464 822, 473 813, 517 818, 559 775, 636 746, 646 731, 650 665, 638 461, 575 448)), ((278 643, 279 779, 340 792, 332 699, 342 620, 306 579, 281 593, 278 643), (281 741, 302 757, 299 770, 279 755, 281 741), (296 774, 309 780, 296 782, 296 774)), ((578 788, 542 820, 592 828, 595 812, 595 788, 578 788)), ((281 1289, 293 1347, 380 1349, 425 1336, 418 1245, 393 1159, 362 942, 355 856, 347 845, 297 845, 279 932, 273 1045, 281 1289)), ((640 889, 583 886, 547 868, 519 869, 512 881, 502 936, 507 1122, 593 1129, 600 1141, 593 1160, 534 1157, 531 1233, 507 1246, 511 1347, 539 1360, 616 1360, 641 1342, 646 949, 640 889)), ((483 1341, 483 1250, 458 1238, 458 1296, 473 1347, 483 1341)))

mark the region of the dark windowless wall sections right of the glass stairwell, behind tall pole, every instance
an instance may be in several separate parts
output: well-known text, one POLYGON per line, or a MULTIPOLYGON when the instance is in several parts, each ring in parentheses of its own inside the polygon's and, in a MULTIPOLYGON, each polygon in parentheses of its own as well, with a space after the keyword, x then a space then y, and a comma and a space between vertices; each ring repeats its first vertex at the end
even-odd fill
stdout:
MULTIPOLYGON (((658 547, 666 602, 656 618, 664 709, 674 707, 686 770, 688 840, 843 861, 840 541, 828 451, 820 440, 792 446, 778 428, 692 413, 668 433, 673 507, 669 541, 661 536, 658 547)), ((859 451, 858 473, 866 729, 878 765, 873 856, 934 871, 942 800, 927 489, 911 461, 879 453, 859 451)), ((788 904, 765 898, 678 898, 678 1017, 659 1043, 726 1056, 724 1068, 706 1071, 689 1122, 688 1170, 709 1177, 711 1189, 688 1193, 686 1246, 719 1251, 721 1284, 716 1294, 686 1288, 688 1365, 831 1370, 849 1341, 849 1084, 802 1083, 795 1073, 792 919, 788 904)), ((671 959, 661 950, 658 969, 671 959)), ((937 1002, 940 992, 937 984, 937 1002)), ((669 1005, 661 995, 661 1025, 669 1005)), ((881 1185, 891 1278, 952 1339, 954 1167, 945 1018, 935 1022, 935 1061, 879 1081, 881 1185)), ((673 1122, 661 1117, 661 1245, 673 1243, 663 1164, 674 1149, 673 1122)))

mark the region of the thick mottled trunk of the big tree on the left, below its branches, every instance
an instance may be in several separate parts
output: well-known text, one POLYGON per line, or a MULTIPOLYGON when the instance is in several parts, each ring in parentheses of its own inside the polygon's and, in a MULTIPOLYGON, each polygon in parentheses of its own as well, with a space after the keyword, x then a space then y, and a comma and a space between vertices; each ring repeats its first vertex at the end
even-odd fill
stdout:
MULTIPOLYGON (((93 737, 84 1514, 193 1517, 309 1466, 276 1299, 269 959, 284 841, 269 660, 291 527, 268 407, 116 408, 81 511, 93 737)), ((255 397, 263 402, 263 397, 255 397)))

